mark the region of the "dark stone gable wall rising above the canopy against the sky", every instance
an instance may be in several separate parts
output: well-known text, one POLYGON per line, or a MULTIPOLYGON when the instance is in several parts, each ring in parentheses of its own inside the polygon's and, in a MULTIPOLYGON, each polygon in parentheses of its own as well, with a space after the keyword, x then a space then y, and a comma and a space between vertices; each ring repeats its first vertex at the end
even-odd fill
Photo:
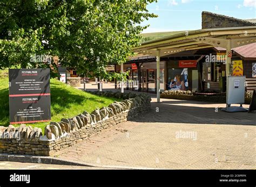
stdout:
POLYGON ((204 28, 224 28, 224 27, 241 27, 241 26, 255 26, 247 20, 237 19, 224 15, 218 15, 212 12, 202 12, 202 29, 204 28))

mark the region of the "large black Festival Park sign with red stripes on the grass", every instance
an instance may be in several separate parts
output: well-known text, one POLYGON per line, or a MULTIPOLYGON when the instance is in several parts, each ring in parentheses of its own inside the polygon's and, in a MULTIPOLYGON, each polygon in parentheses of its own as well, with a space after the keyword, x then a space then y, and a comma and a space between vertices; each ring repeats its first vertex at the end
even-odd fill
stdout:
POLYGON ((9 69, 10 124, 51 120, 50 69, 9 69))

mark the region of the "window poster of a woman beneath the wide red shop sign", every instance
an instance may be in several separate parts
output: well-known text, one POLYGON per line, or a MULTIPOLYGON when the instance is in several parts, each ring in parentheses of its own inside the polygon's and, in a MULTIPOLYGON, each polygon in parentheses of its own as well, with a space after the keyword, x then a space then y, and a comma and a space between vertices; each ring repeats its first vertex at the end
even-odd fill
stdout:
POLYGON ((168 87, 169 90, 188 90, 187 68, 168 70, 168 87))

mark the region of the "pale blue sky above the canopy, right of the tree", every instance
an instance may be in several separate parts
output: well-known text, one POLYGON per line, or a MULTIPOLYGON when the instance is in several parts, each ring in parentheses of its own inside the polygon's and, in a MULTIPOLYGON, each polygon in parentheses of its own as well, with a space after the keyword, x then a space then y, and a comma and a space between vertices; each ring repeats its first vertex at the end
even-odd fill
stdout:
POLYGON ((187 31, 201 28, 201 12, 210 11, 239 19, 256 18, 256 0, 158 0, 147 9, 158 15, 143 33, 187 31))

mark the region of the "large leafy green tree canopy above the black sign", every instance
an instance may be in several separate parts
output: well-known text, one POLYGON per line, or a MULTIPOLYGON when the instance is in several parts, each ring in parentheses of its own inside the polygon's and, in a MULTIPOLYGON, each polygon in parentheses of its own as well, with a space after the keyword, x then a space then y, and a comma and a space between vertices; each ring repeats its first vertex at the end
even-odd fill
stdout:
POLYGON ((58 56, 79 74, 110 78, 107 64, 133 55, 156 0, 2 0, 0 68, 43 68, 58 56), (38 57, 39 56, 39 57, 38 57), (46 58, 42 57, 46 56, 46 58))

